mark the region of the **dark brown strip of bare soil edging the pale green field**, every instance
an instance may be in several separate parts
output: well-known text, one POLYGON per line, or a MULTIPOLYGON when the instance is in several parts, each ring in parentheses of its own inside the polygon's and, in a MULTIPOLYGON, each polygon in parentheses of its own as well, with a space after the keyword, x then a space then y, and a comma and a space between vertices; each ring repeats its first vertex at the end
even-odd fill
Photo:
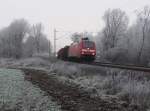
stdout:
POLYGON ((90 97, 75 85, 67 85, 58 81, 55 76, 50 76, 44 71, 22 69, 25 79, 41 88, 54 101, 61 105, 65 111, 133 111, 127 104, 116 101, 104 101, 99 97, 90 97))

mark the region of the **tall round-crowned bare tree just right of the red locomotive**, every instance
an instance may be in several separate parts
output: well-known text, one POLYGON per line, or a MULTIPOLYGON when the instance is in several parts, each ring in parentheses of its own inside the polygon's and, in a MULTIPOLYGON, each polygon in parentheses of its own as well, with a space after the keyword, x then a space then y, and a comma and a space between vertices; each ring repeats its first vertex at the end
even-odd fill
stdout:
POLYGON ((105 28, 103 30, 103 45, 105 50, 114 48, 119 37, 123 36, 128 27, 128 17, 120 9, 107 10, 103 16, 105 28))

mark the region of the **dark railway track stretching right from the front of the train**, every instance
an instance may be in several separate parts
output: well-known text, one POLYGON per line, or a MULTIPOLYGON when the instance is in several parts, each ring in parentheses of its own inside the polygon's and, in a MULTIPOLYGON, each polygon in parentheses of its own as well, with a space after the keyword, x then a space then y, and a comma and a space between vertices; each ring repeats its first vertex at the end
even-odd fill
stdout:
POLYGON ((144 66, 121 65, 121 64, 103 63, 103 62, 93 62, 93 63, 82 62, 81 64, 110 67, 110 68, 119 68, 119 69, 127 69, 127 70, 135 70, 135 71, 142 71, 142 72, 150 72, 150 67, 144 67, 144 66))

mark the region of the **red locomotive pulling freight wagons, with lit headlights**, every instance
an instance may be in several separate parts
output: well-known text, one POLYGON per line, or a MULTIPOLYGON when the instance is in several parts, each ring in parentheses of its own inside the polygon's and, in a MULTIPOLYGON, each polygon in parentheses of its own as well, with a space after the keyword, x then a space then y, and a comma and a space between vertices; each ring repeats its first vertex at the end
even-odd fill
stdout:
POLYGON ((57 58, 62 60, 94 61, 95 56, 96 45, 88 38, 82 38, 79 42, 74 42, 70 46, 65 46, 57 53, 57 58))

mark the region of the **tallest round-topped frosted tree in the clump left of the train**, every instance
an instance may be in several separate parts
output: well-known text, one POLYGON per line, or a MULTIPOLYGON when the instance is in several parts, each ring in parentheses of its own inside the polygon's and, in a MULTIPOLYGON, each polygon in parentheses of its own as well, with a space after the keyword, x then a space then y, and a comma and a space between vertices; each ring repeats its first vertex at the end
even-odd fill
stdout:
POLYGON ((11 38, 13 55, 15 58, 20 58, 22 56, 22 45, 23 40, 29 30, 29 24, 26 20, 20 19, 15 20, 9 26, 9 36, 11 38))

